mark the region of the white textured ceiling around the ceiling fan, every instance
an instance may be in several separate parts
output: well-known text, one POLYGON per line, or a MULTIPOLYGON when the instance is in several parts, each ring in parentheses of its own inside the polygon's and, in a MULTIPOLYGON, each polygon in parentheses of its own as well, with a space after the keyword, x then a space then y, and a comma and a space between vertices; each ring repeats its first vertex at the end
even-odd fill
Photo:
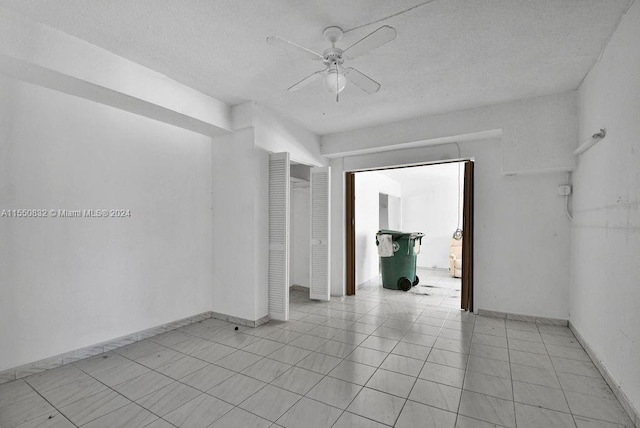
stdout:
POLYGON ((0 6, 221 101, 256 100, 328 134, 576 89, 632 1, 0 0, 0 6), (380 82, 378 93, 347 85, 336 103, 320 81, 286 91, 322 67, 268 45, 266 37, 322 52, 328 47, 322 31, 332 25, 347 30, 338 43, 343 48, 381 25, 396 28, 394 41, 347 64, 380 82))

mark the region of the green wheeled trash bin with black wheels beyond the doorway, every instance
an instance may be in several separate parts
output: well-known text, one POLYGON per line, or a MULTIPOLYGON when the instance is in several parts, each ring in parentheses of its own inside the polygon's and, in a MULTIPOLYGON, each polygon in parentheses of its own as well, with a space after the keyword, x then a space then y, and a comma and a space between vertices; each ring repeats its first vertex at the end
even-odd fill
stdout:
POLYGON ((386 240, 379 248, 380 269, 382 270, 382 286, 391 290, 408 291, 418 284, 420 279, 416 275, 416 256, 420 252, 423 233, 400 232, 398 230, 379 230, 376 233, 376 245, 380 247, 381 240, 386 240), (389 235, 391 238, 381 238, 389 235), (393 253, 388 251, 388 240, 391 239, 393 253), (417 242, 416 242, 417 241, 417 242), (385 251, 387 250, 387 251, 385 251))

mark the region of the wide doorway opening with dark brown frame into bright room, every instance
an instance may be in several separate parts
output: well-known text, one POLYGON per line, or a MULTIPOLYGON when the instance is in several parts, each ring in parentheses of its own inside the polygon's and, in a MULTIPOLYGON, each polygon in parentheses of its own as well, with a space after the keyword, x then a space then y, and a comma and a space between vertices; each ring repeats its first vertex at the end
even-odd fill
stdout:
POLYGON ((347 172, 346 187, 347 295, 382 289, 378 230, 421 232, 420 282, 410 292, 473 310, 472 161, 347 172))

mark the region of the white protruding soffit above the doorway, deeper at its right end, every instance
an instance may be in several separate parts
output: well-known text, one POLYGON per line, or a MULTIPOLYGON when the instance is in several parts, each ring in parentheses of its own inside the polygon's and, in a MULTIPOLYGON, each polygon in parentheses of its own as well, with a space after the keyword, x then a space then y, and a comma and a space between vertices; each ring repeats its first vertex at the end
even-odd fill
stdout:
POLYGON ((323 135, 322 154, 335 159, 500 135, 503 173, 568 171, 575 166, 576 96, 570 91, 323 135))

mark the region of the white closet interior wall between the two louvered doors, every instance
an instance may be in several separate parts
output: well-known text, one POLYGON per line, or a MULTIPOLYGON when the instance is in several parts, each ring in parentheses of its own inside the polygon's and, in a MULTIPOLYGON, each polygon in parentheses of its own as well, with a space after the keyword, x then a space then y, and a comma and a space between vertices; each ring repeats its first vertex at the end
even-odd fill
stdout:
POLYGON ((291 186, 291 284, 309 287, 311 281, 311 195, 309 183, 291 186))

